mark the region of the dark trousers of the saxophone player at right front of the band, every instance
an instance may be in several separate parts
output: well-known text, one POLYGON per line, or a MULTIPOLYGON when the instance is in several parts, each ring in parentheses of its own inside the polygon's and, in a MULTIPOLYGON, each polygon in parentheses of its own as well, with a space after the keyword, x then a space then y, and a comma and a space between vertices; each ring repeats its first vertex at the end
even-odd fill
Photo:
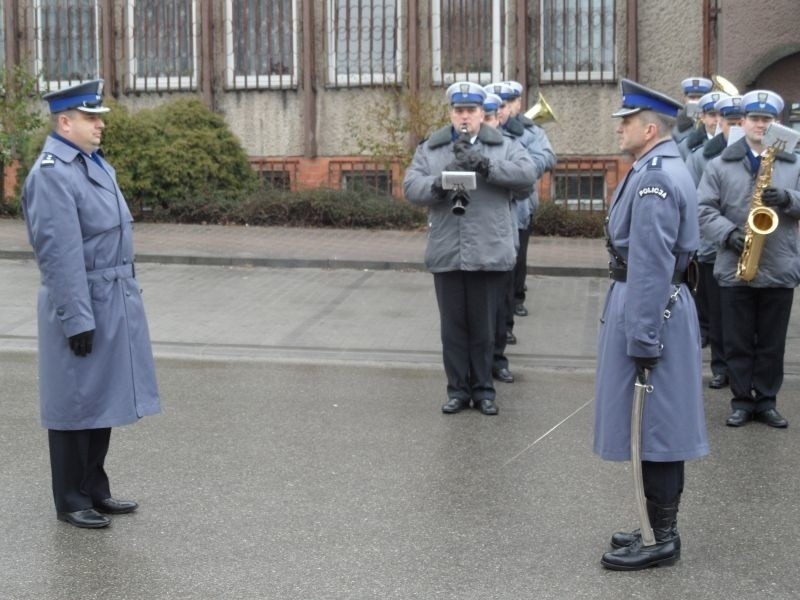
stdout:
POLYGON ((775 408, 793 298, 793 288, 720 288, 732 409, 775 408))

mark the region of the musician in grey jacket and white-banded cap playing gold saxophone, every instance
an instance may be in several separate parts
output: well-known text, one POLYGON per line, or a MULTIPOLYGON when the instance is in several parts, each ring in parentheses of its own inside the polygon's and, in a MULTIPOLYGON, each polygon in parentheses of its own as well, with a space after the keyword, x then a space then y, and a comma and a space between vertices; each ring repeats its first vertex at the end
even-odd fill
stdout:
POLYGON ((774 92, 754 90, 742 97, 742 106, 745 136, 711 160, 700 180, 700 226, 718 247, 714 276, 720 285, 722 339, 733 395, 726 424, 740 427, 755 419, 784 428, 788 422, 776 406, 798 284, 800 161, 790 152, 775 155, 772 178, 761 193, 763 204, 775 210, 777 228, 764 236, 755 278, 737 279, 745 223, 766 150, 764 134, 783 110, 783 100, 774 92))

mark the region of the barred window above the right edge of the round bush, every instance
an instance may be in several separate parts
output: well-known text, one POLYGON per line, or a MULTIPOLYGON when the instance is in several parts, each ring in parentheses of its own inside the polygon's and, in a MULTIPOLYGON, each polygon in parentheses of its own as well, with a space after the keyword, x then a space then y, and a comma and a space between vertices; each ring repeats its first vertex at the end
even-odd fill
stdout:
POLYGON ((227 84, 297 85, 297 0, 226 0, 227 84))

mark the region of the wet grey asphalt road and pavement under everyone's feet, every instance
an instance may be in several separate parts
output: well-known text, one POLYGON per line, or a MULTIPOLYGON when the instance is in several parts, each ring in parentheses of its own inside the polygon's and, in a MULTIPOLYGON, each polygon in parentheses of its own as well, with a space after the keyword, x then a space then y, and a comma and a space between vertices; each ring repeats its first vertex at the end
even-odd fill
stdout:
POLYGON ((599 557, 636 514, 627 463, 591 453, 601 240, 533 238, 497 417, 439 410, 423 232, 139 223, 135 242, 163 411, 113 435, 113 491, 140 510, 79 530, 38 424, 38 271, 0 220, 0 597, 800 597, 797 310, 789 429, 727 428, 707 389, 682 559, 618 573, 599 557))

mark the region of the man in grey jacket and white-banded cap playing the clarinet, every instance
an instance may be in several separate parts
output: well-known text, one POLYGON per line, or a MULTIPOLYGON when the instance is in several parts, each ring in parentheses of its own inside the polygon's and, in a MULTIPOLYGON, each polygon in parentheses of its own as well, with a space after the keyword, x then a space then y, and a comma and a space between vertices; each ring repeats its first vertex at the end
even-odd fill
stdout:
POLYGON ((460 412, 472 402, 493 415, 495 322, 516 254, 511 200, 529 193, 534 166, 522 146, 483 124, 481 86, 454 83, 447 98, 451 124, 417 147, 403 191, 428 208, 425 264, 433 273, 447 375, 442 411, 460 412), (455 170, 475 172, 477 179, 461 215, 453 212, 453 191, 442 188, 442 172, 455 170))

